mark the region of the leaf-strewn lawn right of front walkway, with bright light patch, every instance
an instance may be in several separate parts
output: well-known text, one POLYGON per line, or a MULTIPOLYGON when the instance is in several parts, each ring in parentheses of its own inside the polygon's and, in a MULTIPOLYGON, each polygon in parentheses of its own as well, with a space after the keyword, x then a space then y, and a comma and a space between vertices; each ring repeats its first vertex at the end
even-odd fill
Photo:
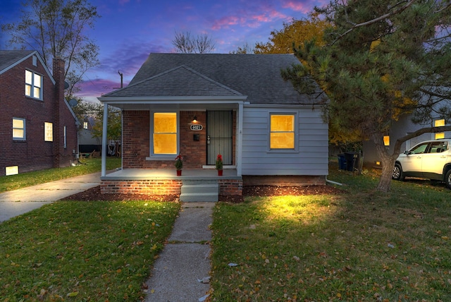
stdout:
POLYGON ((376 170, 330 174, 349 193, 218 204, 212 298, 451 301, 450 191, 407 181, 383 194, 376 170))

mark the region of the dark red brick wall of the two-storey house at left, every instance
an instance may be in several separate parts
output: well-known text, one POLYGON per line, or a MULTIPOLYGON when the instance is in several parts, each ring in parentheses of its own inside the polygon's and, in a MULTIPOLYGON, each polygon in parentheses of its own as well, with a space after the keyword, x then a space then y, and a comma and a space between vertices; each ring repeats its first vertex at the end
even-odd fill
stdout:
MULTIPOLYGON (((64 61, 59 64, 64 70, 64 61)), ((63 78, 59 83, 63 88, 63 78)), ((58 95, 63 97, 63 90, 58 95)), ((18 166, 19 173, 23 173, 70 165, 73 150, 77 150, 77 128, 63 99, 56 114, 55 97, 55 86, 49 74, 39 60, 37 66, 33 66, 32 56, 0 75, 0 176, 11 166, 18 166), (25 96, 25 69, 42 75, 42 100, 25 96), (13 118, 25 119, 25 140, 13 140, 13 118), (44 141, 45 122, 53 123, 53 142, 44 141), (56 147, 57 142, 63 147, 63 126, 67 126, 66 149, 56 147)))

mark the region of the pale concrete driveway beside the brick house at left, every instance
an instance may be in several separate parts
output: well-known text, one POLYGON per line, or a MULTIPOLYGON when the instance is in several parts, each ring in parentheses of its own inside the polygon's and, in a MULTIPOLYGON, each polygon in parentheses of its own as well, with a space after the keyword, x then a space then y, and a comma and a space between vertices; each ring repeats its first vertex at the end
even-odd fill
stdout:
POLYGON ((0 193, 0 222, 100 185, 100 172, 0 193))

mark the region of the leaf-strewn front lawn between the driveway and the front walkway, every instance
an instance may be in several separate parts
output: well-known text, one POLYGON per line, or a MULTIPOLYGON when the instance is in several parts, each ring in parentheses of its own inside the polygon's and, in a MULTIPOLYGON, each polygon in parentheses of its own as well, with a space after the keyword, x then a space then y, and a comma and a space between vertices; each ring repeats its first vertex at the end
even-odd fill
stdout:
POLYGON ((180 205, 56 202, 0 224, 0 301, 138 301, 180 205))

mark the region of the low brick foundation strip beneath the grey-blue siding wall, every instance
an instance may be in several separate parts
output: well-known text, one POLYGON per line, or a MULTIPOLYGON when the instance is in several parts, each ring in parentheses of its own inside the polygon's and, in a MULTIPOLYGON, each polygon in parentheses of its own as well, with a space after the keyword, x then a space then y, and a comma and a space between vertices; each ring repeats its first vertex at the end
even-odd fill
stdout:
POLYGON ((256 176, 243 175, 243 186, 322 186, 326 184, 326 176, 287 175, 256 176))

